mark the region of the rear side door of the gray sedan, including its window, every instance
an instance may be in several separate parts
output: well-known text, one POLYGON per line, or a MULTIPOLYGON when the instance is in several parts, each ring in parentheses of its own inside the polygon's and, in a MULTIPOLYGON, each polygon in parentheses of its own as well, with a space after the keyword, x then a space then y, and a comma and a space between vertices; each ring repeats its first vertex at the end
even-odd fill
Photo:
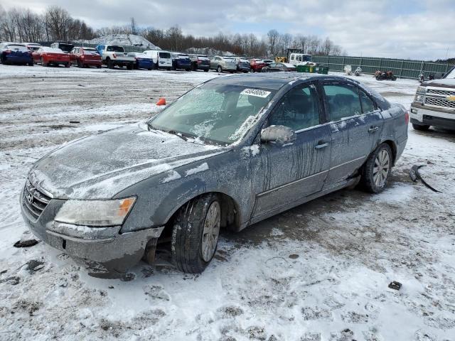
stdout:
POLYGON ((368 94, 350 82, 325 81, 322 88, 331 121, 330 188, 357 174, 380 136, 382 116, 368 94))

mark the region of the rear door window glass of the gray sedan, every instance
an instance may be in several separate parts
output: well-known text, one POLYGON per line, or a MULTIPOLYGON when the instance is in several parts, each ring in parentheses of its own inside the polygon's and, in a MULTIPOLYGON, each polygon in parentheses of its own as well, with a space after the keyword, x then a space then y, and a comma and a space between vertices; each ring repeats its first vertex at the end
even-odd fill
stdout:
POLYGON ((358 90, 352 85, 326 84, 323 85, 328 103, 328 114, 331 121, 338 121, 344 117, 360 115, 360 99, 358 90))

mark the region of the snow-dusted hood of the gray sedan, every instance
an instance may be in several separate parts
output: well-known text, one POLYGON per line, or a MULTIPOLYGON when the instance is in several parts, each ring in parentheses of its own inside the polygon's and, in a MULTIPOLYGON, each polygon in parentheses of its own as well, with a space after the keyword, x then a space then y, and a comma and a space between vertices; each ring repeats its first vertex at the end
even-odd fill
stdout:
POLYGON ((29 178, 55 198, 108 199, 141 180, 223 151, 131 124, 65 144, 41 158, 29 178))

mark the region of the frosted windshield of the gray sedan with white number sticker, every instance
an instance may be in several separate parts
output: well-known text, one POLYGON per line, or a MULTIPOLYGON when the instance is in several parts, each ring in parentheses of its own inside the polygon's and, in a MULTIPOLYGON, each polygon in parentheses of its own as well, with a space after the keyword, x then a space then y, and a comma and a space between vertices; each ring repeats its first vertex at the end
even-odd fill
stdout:
POLYGON ((232 144, 255 124, 275 92, 209 82, 187 92, 150 119, 149 127, 208 143, 232 144))

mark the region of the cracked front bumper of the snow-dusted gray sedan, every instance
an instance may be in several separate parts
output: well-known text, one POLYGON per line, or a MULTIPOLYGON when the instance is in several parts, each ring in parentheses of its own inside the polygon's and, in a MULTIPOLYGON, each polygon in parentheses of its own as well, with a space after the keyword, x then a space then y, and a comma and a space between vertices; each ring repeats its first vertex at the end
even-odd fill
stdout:
POLYGON ((90 276, 121 278, 144 256, 146 244, 158 239, 164 227, 120 233, 121 226, 82 227, 53 219, 65 200, 52 199, 41 215, 33 217, 21 194, 21 213, 30 231, 51 247, 86 266, 90 276))

